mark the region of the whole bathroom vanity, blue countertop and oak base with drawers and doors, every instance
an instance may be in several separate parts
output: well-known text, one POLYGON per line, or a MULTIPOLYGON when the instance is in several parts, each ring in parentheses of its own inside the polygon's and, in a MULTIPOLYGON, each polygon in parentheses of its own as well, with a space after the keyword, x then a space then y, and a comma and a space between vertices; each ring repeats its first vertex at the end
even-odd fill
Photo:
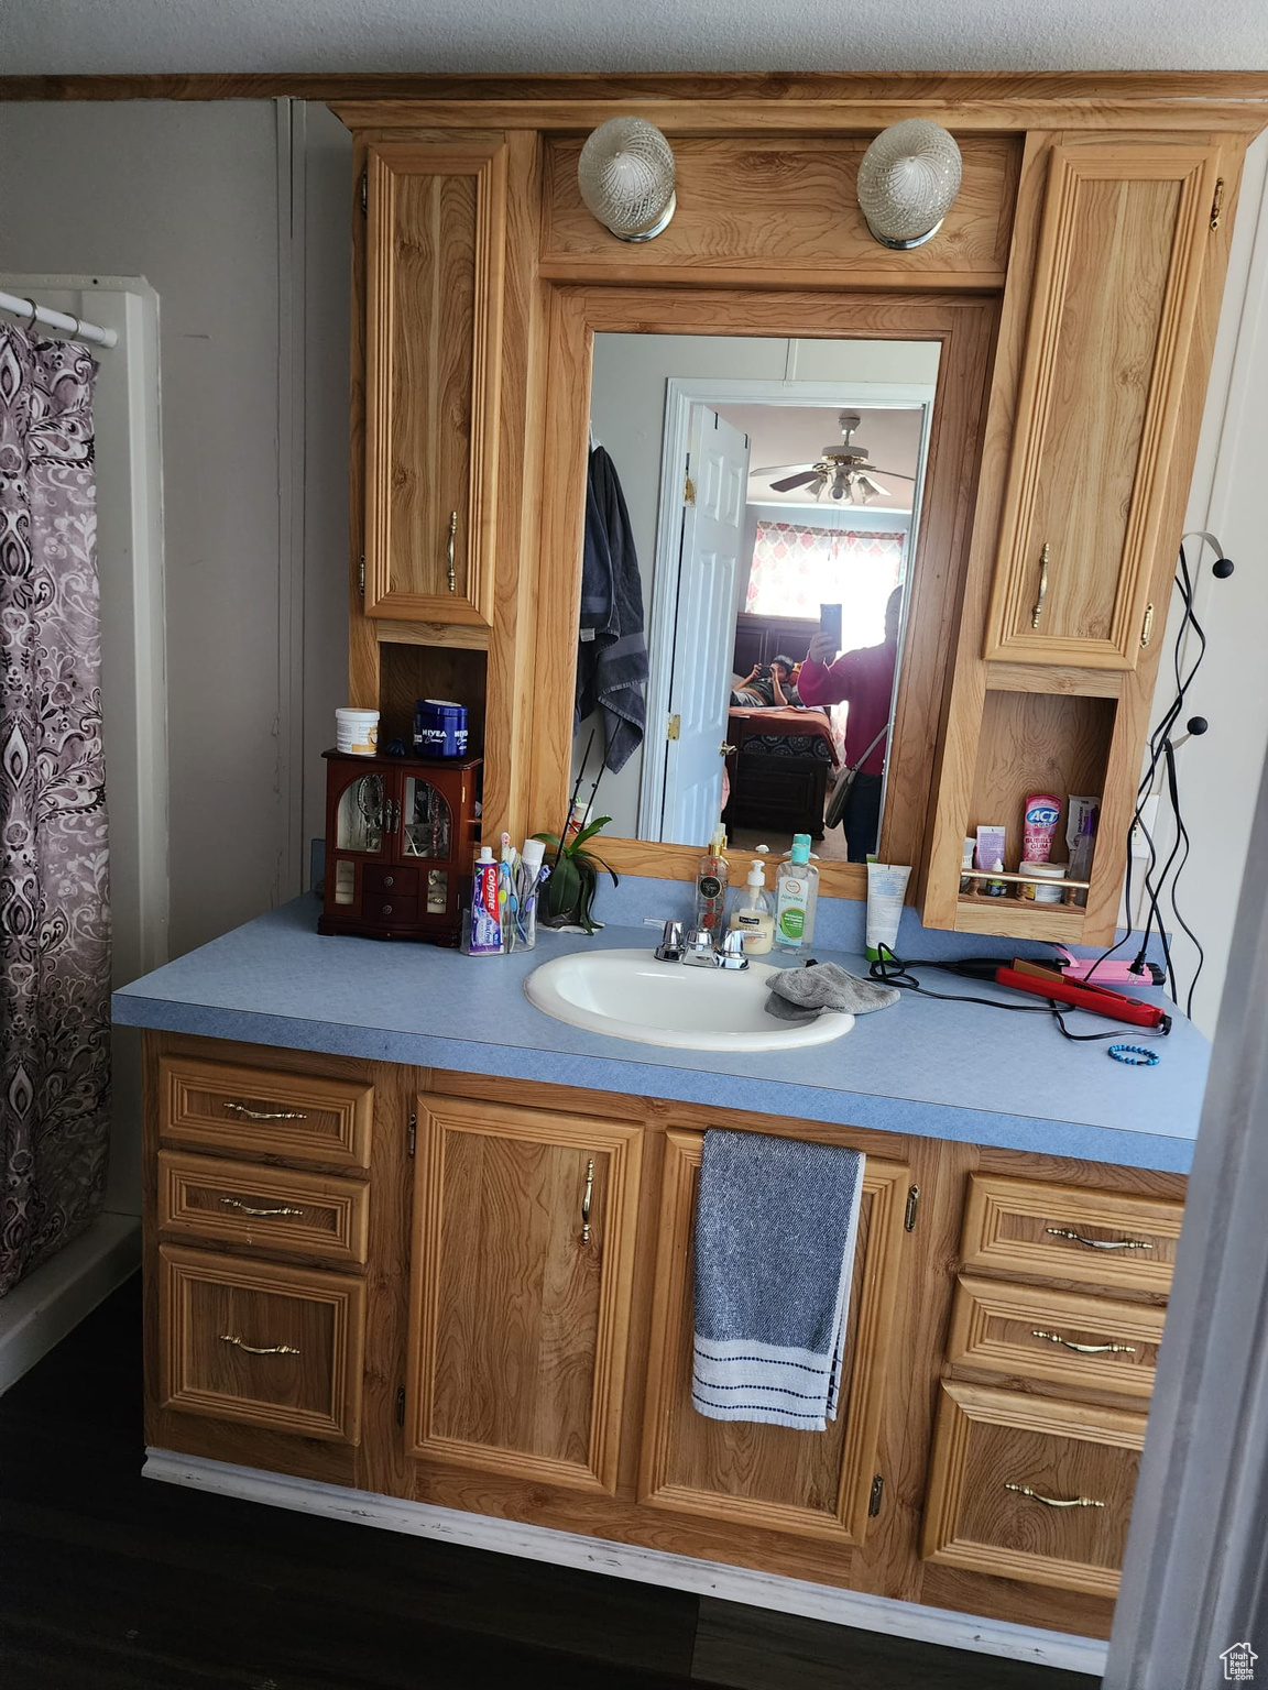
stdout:
POLYGON ((812 1049, 664 1049, 522 990, 641 930, 472 960, 320 938, 316 908, 115 999, 152 1029, 147 1470, 920 1636, 972 1614, 986 1646, 1094 1670, 1192 1026, 1128 1070, 1047 1017, 908 995, 812 1049), (691 1408, 708 1126, 866 1153, 827 1433, 691 1408))

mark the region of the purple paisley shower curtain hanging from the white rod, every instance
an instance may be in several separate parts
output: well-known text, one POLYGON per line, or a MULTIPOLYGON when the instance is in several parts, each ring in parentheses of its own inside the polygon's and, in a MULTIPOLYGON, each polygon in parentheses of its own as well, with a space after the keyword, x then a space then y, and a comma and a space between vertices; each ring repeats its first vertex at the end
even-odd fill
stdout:
POLYGON ((105 1190, 95 375, 83 346, 0 326, 0 1295, 105 1190))

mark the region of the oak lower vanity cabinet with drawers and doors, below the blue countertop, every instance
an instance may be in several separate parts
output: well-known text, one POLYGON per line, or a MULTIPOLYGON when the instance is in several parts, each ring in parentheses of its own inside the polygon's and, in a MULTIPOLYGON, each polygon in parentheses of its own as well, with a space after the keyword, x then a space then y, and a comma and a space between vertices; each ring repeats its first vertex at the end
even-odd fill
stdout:
POLYGON ((1107 1633, 1178 1176, 184 1034, 145 1073, 147 1443, 1107 1633), (867 1158, 823 1433, 691 1408, 712 1124, 867 1158))

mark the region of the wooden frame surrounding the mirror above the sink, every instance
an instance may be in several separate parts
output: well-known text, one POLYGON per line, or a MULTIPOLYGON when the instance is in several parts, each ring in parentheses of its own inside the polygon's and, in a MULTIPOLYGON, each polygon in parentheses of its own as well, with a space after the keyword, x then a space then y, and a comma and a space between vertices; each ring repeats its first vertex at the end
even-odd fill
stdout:
MULTIPOLYGON (((921 870, 938 725, 955 649, 977 495, 982 424, 999 314, 991 294, 757 292, 746 289, 555 286, 546 301, 546 399, 529 810, 555 831, 571 784, 577 624, 595 335, 725 335, 788 340, 938 341, 903 669, 879 855, 921 870)), ((691 879, 702 845, 604 837, 620 874, 691 879)), ((820 864, 820 891, 867 896, 862 864, 820 864)))

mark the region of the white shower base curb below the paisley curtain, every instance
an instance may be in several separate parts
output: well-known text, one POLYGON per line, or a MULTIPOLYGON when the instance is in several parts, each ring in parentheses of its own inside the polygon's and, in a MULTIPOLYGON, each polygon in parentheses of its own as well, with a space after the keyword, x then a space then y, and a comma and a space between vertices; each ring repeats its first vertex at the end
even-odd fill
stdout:
POLYGON ((96 1220, 0 1298, 0 1396, 140 1266, 137 1215, 96 1220))

